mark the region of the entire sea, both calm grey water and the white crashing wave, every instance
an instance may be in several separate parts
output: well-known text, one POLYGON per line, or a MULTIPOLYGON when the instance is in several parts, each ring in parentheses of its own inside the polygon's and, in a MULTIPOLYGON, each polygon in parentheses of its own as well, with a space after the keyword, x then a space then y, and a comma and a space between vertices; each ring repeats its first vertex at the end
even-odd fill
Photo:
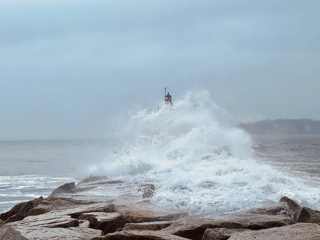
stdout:
POLYGON ((206 92, 128 112, 117 124, 110 139, 0 141, 0 212, 90 174, 153 183, 152 203, 189 214, 282 196, 320 210, 320 135, 250 136, 206 92))

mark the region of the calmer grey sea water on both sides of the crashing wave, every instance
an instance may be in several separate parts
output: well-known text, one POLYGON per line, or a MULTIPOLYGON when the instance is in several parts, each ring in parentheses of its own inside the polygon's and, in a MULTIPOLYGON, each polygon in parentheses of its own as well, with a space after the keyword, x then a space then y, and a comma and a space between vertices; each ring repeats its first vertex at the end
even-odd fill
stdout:
MULTIPOLYGON (((320 135, 253 137, 254 158, 318 186, 320 135)), ((88 176, 114 152, 112 140, 0 141, 0 212, 88 176)))

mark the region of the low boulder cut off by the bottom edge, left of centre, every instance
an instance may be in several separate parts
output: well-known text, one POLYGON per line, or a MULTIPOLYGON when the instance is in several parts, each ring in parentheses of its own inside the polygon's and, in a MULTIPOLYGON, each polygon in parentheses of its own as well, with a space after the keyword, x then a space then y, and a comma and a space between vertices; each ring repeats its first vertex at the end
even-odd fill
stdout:
POLYGON ((149 230, 124 230, 90 240, 187 240, 186 238, 149 230))

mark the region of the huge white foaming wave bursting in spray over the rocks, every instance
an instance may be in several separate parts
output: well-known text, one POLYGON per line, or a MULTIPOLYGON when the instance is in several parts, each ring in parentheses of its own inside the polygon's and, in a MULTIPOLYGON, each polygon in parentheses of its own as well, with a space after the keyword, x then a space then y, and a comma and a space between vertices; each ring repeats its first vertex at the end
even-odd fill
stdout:
POLYGON ((319 209, 319 189, 255 159, 250 136, 228 124, 227 114, 207 91, 188 92, 159 110, 129 112, 119 122, 120 143, 113 153, 85 169, 151 182, 155 204, 190 214, 219 214, 288 196, 319 209))

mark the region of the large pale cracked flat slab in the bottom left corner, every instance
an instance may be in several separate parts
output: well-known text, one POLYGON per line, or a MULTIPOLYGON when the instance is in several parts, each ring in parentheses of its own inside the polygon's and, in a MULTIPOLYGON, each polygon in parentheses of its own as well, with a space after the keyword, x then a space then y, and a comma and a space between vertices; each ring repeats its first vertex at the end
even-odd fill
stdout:
POLYGON ((0 240, 83 240, 103 236, 100 230, 78 226, 78 220, 68 215, 45 213, 4 224, 0 240))

